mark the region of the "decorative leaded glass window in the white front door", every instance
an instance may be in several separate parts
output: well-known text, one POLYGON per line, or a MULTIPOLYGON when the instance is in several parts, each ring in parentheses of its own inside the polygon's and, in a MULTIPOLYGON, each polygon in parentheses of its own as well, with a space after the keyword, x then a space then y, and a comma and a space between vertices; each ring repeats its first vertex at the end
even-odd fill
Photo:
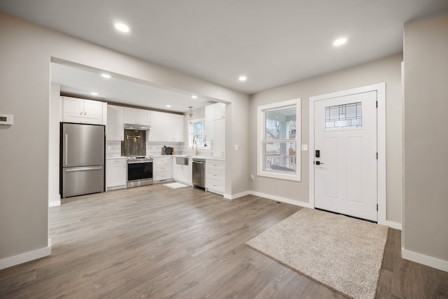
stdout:
POLYGON ((325 130, 362 126, 363 113, 361 102, 325 107, 325 130))

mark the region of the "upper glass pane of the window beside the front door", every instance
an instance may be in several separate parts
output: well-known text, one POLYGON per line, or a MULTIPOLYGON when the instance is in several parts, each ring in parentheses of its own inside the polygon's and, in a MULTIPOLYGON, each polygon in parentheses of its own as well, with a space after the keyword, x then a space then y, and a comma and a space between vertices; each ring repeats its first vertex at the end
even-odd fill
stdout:
POLYGON ((295 139, 295 107, 266 111, 266 140, 295 139))

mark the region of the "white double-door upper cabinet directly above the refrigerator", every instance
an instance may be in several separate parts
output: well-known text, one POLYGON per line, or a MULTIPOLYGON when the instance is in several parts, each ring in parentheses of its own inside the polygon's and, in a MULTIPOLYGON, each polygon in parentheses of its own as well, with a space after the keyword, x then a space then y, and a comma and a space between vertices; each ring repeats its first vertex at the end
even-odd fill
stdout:
POLYGON ((64 122, 106 125, 106 103, 76 97, 62 97, 62 101, 64 122))

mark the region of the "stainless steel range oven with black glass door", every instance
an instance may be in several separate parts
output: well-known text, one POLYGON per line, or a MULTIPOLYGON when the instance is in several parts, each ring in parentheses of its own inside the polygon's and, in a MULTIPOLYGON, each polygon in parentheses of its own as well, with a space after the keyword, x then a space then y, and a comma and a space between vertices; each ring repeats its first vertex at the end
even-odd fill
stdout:
POLYGON ((146 186, 153 183, 153 157, 128 157, 126 187, 146 186))

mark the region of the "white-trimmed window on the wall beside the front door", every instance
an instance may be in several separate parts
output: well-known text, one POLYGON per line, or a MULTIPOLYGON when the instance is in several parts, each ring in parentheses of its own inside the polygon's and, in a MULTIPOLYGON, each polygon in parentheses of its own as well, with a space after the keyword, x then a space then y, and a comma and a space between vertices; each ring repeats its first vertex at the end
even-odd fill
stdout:
POLYGON ((300 103, 258 106, 258 176, 300 181, 300 103))

